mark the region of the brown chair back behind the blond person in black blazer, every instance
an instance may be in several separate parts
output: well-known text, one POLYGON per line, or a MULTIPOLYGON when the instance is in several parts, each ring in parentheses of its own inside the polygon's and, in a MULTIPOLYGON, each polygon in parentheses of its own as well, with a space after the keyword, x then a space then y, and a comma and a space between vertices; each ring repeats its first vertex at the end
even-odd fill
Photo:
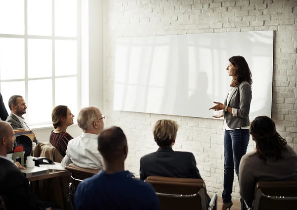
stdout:
POLYGON ((148 176, 161 210, 207 210, 206 188, 202 179, 148 176))

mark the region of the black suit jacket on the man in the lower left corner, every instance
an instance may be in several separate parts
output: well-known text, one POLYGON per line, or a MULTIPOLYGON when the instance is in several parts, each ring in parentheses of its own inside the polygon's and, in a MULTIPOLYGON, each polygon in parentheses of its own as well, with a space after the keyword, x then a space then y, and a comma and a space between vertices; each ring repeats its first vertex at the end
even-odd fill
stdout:
POLYGON ((8 200, 7 210, 38 210, 27 178, 12 162, 1 157, 0 195, 8 200))

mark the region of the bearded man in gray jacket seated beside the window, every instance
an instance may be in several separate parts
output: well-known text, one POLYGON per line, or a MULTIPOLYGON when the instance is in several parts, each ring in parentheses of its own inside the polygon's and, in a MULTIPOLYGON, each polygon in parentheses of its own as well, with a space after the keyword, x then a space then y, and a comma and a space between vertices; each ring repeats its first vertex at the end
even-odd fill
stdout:
MULTIPOLYGON (((7 117, 6 122, 11 123, 13 129, 24 128, 26 131, 31 131, 31 129, 25 121, 25 118, 22 117, 23 114, 27 113, 27 106, 23 97, 18 95, 10 97, 8 101, 8 106, 11 110, 11 113, 7 117)), ((37 144, 36 138, 34 138, 33 142, 37 144)))

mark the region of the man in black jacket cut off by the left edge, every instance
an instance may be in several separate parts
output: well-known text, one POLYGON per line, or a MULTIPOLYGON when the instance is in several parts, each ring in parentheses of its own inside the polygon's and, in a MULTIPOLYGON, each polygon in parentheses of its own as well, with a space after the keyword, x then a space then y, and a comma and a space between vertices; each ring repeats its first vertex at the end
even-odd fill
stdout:
MULTIPOLYGON (((7 199, 7 210, 40 210, 26 177, 6 154, 15 140, 11 126, 0 121, 0 195, 7 199)), ((19 165, 20 166, 20 165, 19 165)), ((21 166, 20 166, 21 167, 21 166)), ((6 205, 6 204, 5 204, 6 205)))

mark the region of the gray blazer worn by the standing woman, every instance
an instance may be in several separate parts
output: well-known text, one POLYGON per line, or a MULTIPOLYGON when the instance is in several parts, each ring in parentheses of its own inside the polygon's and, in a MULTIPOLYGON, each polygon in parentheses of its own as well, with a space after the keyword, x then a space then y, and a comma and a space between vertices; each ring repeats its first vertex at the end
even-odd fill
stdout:
POLYGON ((249 107, 251 102, 251 87, 247 81, 240 83, 240 85, 233 89, 230 93, 229 101, 227 98, 224 105, 236 108, 237 116, 233 116, 230 112, 225 112, 226 123, 229 128, 241 128, 249 126, 249 107))

